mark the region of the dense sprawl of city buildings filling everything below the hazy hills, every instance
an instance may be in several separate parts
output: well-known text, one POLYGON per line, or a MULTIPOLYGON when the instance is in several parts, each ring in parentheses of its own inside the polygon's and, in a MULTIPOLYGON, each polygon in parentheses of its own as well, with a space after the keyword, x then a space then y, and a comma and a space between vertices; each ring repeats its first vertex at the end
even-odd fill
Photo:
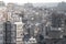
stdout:
POLYGON ((0 1, 0 44, 66 44, 65 8, 0 1))

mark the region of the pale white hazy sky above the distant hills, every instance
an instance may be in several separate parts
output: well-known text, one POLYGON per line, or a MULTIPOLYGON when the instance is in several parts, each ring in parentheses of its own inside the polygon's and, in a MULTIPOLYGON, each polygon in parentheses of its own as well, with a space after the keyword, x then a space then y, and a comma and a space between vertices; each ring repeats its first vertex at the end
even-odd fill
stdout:
POLYGON ((8 2, 14 2, 14 3, 28 3, 28 2, 31 2, 31 3, 45 3, 45 2, 61 2, 61 1, 65 1, 66 0, 1 0, 1 1, 4 1, 6 3, 8 2))

